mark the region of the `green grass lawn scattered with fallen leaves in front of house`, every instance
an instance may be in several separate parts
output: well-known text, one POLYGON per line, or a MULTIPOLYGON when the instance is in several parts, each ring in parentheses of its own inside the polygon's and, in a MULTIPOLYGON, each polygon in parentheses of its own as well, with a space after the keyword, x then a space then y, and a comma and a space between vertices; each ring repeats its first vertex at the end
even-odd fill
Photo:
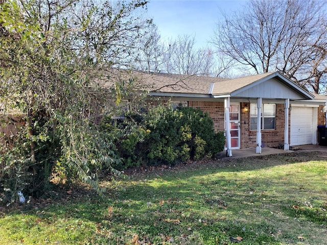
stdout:
POLYGON ((0 244, 327 244, 324 154, 141 171, 103 181, 105 201, 52 192, 47 205, 3 210, 0 244))

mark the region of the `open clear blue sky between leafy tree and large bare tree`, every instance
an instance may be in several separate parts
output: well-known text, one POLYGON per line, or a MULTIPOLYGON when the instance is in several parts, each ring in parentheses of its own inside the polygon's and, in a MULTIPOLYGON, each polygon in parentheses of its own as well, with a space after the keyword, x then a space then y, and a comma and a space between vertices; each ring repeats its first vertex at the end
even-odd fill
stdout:
POLYGON ((150 0, 148 17, 153 18, 162 38, 195 35, 197 46, 205 47, 221 11, 237 11, 245 4, 246 0, 150 0))

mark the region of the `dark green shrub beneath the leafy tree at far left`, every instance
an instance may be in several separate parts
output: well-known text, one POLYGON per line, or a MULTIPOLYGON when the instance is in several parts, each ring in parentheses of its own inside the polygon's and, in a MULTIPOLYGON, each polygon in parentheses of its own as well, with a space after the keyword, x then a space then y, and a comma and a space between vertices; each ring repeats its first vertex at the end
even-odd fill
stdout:
POLYGON ((18 190, 33 197, 50 191, 52 167, 60 155, 58 141, 52 134, 46 135, 35 127, 37 135, 30 137, 24 133, 25 125, 16 127, 19 131, 4 136, 0 146, 0 192, 4 194, 0 197, 0 206, 14 203, 18 190), (31 154, 32 141, 34 156, 31 154))

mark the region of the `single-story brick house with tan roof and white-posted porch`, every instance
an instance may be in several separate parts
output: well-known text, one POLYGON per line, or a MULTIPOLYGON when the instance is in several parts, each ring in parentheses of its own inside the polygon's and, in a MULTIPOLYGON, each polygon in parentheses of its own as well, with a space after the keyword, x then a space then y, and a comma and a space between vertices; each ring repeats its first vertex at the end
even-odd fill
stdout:
POLYGON ((256 146, 316 144, 325 124, 326 96, 301 88, 279 72, 222 79, 135 72, 150 94, 207 112, 215 129, 225 131, 227 155, 256 146))

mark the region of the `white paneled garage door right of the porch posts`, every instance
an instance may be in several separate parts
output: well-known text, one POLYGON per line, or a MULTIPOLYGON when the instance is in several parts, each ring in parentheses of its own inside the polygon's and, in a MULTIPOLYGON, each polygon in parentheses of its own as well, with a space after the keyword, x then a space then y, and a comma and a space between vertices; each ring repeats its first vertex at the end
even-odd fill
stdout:
POLYGON ((311 107, 292 107, 290 145, 312 144, 312 111, 311 107))

